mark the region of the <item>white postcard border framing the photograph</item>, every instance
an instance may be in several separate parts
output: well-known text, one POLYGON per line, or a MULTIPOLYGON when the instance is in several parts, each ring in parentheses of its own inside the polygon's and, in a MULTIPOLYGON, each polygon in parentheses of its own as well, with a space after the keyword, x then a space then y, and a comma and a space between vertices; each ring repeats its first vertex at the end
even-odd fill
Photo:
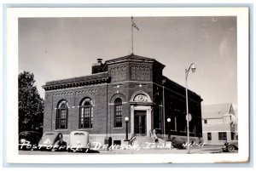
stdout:
POLYGON ((204 163, 247 162, 248 9, 247 8, 10 8, 7 26, 7 162, 11 163, 204 163), (237 111, 239 152, 234 154, 152 155, 19 155, 18 142, 18 18, 110 16, 237 16, 237 111))

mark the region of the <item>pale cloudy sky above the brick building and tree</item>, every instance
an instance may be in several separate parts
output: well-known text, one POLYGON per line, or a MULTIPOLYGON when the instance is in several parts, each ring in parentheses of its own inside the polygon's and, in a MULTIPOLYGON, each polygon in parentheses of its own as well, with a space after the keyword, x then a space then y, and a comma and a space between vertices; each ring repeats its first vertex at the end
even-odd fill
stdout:
MULTIPOLYGON (((237 100, 236 17, 135 17, 134 54, 154 58, 163 74, 201 95, 202 105, 237 100)), ((20 18, 19 72, 49 81, 91 74, 97 58, 131 54, 131 18, 20 18)))

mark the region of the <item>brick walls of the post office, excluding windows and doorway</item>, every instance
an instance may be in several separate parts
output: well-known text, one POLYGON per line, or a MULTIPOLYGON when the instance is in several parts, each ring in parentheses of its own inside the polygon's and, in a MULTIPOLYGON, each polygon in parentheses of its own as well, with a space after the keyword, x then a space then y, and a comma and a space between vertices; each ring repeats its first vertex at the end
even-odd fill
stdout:
MULTIPOLYGON (((45 92, 45 110, 44 110, 44 132, 55 131, 55 117, 56 108, 61 100, 66 100, 68 103, 68 126, 67 129, 58 129, 56 131, 62 134, 69 134, 73 130, 79 129, 79 106, 84 98, 90 98, 93 104, 93 127, 83 128, 82 130, 88 131, 90 134, 125 134, 125 117, 131 118, 130 100, 131 96, 136 92, 145 92, 149 94, 150 99, 154 101, 156 94, 162 98, 162 85, 161 79, 163 66, 154 63, 143 62, 130 62, 125 61, 123 63, 112 63, 108 66, 108 71, 104 73, 98 73, 88 77, 111 77, 111 82, 95 82, 94 84, 86 84, 84 87, 61 87, 58 90, 48 90, 45 92), (136 66, 136 67, 135 67, 136 66), (150 68, 150 71, 148 71, 150 68), (131 71, 134 70, 134 71, 131 71), (152 70, 152 71, 151 71, 152 70), (153 82, 152 82, 153 81, 153 82), (139 86, 141 85, 141 86, 139 86), (114 127, 114 100, 120 98, 122 100, 122 127, 114 127)), ((86 77, 87 78, 87 77, 86 77)), ((74 78, 73 81, 81 81, 82 78, 74 78)), ((85 78, 83 78, 85 79, 85 78)), ((69 82, 72 79, 65 81, 69 82)), ((60 83, 56 81, 54 83, 60 83)), ((51 83, 47 83, 49 86, 51 83)), ((69 83, 73 84, 73 83, 69 83)), ((80 85, 80 84, 79 84, 80 85)), ((83 85, 83 84, 81 84, 83 85)), ((61 85, 62 86, 62 85, 61 85)), ((185 124, 184 117, 185 111, 185 91, 184 88, 177 83, 167 80, 165 90, 165 128, 167 129, 166 118, 172 117, 172 123, 174 117, 177 117, 177 125, 185 124)), ((151 104, 152 105, 152 104, 151 104)), ((152 105, 154 106, 154 105, 152 105)), ((197 94, 189 91, 189 112, 193 115, 194 125, 196 128, 196 134, 194 136, 201 136, 201 98, 197 94), (199 121, 199 123, 198 123, 199 121)), ((154 107, 153 107, 154 115, 154 107)), ((152 122, 154 123, 154 122, 152 122)), ((129 133, 131 133, 131 119, 128 123, 129 133)), ((153 128, 154 126, 152 126, 153 128)), ((164 126, 162 125, 162 128, 164 126)), ((185 135, 182 129, 177 126, 176 135, 185 135)), ((166 134, 168 132, 166 131, 166 134)), ((193 136, 193 134, 191 134, 193 136)), ((116 135, 117 137, 119 135, 116 135)))

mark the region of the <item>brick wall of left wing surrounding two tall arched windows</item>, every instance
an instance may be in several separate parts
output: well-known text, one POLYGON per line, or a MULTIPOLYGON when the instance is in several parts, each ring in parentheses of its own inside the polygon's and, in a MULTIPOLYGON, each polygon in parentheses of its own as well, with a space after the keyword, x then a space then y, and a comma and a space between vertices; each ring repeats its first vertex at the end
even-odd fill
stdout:
POLYGON ((84 88, 70 88, 46 92, 44 132, 50 130, 55 131, 56 108, 61 100, 66 100, 68 103, 68 126, 67 129, 58 129, 56 131, 69 134, 73 130, 78 130, 79 106, 85 97, 89 97, 93 103, 93 128, 86 128, 86 131, 91 134, 105 133, 107 116, 106 87, 107 84, 101 84, 84 88))

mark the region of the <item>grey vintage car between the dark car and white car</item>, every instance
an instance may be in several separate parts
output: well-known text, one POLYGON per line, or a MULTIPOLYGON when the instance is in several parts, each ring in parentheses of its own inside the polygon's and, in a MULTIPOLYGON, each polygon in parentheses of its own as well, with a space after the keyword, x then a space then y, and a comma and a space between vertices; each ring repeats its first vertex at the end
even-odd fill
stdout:
POLYGON ((66 151, 67 142, 63 141, 63 135, 59 132, 45 132, 39 141, 38 149, 41 151, 66 151))

